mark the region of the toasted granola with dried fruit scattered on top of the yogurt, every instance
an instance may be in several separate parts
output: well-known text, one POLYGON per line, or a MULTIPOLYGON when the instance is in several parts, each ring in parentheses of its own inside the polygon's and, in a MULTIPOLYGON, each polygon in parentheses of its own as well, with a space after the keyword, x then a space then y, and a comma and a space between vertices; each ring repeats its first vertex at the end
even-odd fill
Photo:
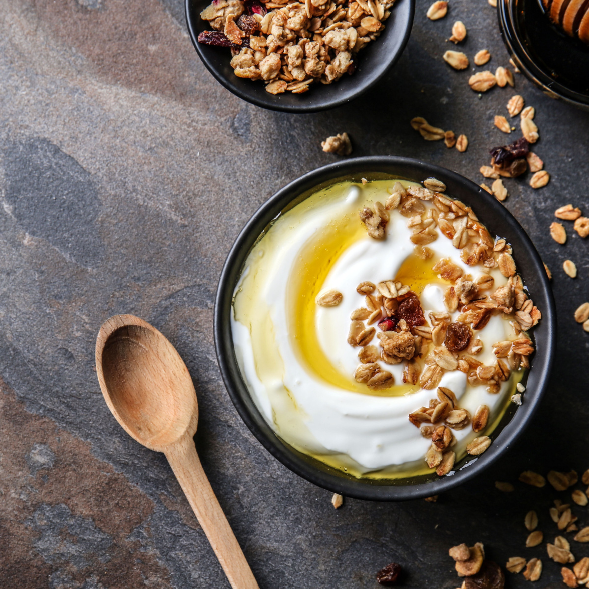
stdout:
MULTIPOLYGON (((448 474, 454 466, 455 453, 450 449, 455 444, 452 430, 471 425, 473 431, 480 432, 487 426, 489 415, 485 405, 474 416, 459 408, 454 392, 438 386, 442 376, 461 370, 469 385, 484 385, 488 392, 498 393, 512 370, 530 367, 534 344, 527 331, 541 319, 540 310, 528 297, 517 274, 511 246, 505 239, 492 239, 472 209, 442 194, 445 189, 435 178, 428 178, 423 186, 406 189, 396 182, 386 203, 377 201, 372 208, 365 207, 359 213, 360 219, 370 237, 383 239, 389 211, 398 209, 408 219, 410 239, 419 257, 425 260, 433 256, 427 245, 438 239, 440 232, 460 250, 461 260, 477 267, 482 276, 474 280, 451 260, 438 260, 434 272, 451 284, 444 293, 446 311, 432 312, 428 317, 409 286, 395 280, 376 285, 363 282, 357 290, 365 295, 365 306, 353 311, 348 335, 348 343, 360 348, 355 378, 369 389, 388 388, 395 382, 391 372, 380 368, 379 361, 391 365, 403 362, 405 383, 419 383, 422 389, 438 388, 437 398, 430 401, 429 407, 412 412, 409 420, 421 428, 424 437, 432 439, 425 459, 440 476, 448 474), (432 206, 426 207, 425 202, 432 206), (508 279, 504 286, 495 287, 490 274, 495 268, 508 279), (476 332, 484 329, 492 315, 505 316, 515 335, 496 342, 492 346, 495 362, 485 365, 477 359, 482 342, 476 332), (373 343, 375 337, 378 345, 373 343)), ((521 404, 525 388, 519 386, 518 391, 518 398, 512 400, 521 404)), ((479 436, 466 451, 482 454, 490 444, 488 436, 479 436)))

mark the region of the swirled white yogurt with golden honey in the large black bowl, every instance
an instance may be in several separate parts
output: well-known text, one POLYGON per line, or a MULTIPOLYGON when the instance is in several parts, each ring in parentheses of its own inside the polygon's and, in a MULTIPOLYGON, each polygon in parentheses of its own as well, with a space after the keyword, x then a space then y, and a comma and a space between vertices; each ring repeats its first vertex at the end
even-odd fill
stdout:
MULTIPOLYGON (((478 366, 492 366, 495 370, 499 366, 498 343, 503 342, 502 350, 507 350, 507 343, 511 345, 522 337, 517 325, 514 329, 512 313, 498 310, 498 303, 490 297, 502 287, 507 287, 508 294, 517 291, 517 287, 510 286, 514 279, 505 276, 509 272, 502 272, 504 268, 496 261, 501 254, 494 252, 494 240, 485 254, 475 252, 479 259, 473 264, 472 258, 462 253, 463 248, 455 247, 456 237, 448 236, 448 223, 452 225, 456 221, 456 226, 460 226, 461 221, 457 220, 460 217, 454 216, 451 209, 442 210, 439 216, 435 203, 444 209, 439 199, 418 198, 423 211, 411 218, 403 210, 407 208, 403 203, 411 200, 411 194, 406 193, 397 207, 387 211, 389 220, 382 239, 374 239, 367 233, 359 211, 372 207, 370 210, 378 212, 375 203, 383 205, 390 200, 394 187, 399 187, 395 183, 396 180, 368 184, 343 181, 317 191, 281 214, 249 253, 234 293, 231 317, 234 350, 244 382, 266 422, 293 448, 357 477, 394 478, 431 472, 430 466, 435 461, 426 463, 424 457, 432 448, 435 424, 430 425, 428 416, 425 414, 424 418, 423 411, 418 410, 431 413, 432 405, 435 409, 440 403, 440 387, 455 395, 454 406, 445 409, 445 418, 451 421, 448 411, 466 411, 469 416, 468 425, 451 429, 451 446, 439 454, 447 456, 444 452, 451 448, 458 460, 473 439, 488 436, 497 426, 523 373, 522 368, 514 366, 517 355, 509 348, 502 360, 503 365, 511 360, 504 379, 495 373, 486 380, 477 376, 487 375, 483 369, 477 373, 478 366), (430 209, 433 214, 428 213, 430 209), (425 246, 419 244, 422 237, 415 237, 423 227, 423 222, 418 223, 420 214, 423 218, 429 215, 437 219, 428 229, 425 246), (481 261, 484 256, 487 256, 486 266, 481 261), (470 305, 459 302, 458 308, 449 310, 449 289, 454 286, 458 289, 461 283, 444 279, 444 270, 434 270, 434 266, 439 270, 444 263, 451 263, 450 267, 461 273, 463 282, 466 277, 468 284, 492 285, 486 290, 477 287, 475 302, 485 300, 489 307, 495 307, 482 312, 479 307, 469 309, 472 302, 470 305), (415 355, 409 360, 390 355, 373 359, 369 370, 385 375, 386 382, 371 388, 370 380, 358 376, 359 367, 367 366, 359 359, 359 352, 365 346, 357 345, 355 340, 350 344, 350 316, 366 309, 368 299, 357 290, 359 284, 370 282, 376 286, 386 281, 410 290, 398 300, 380 296, 380 302, 396 308, 400 307, 403 296, 415 294, 425 321, 421 326, 411 327, 407 322, 395 326, 398 333, 403 328, 411 334, 417 346, 415 355), (322 293, 330 292, 339 293, 339 302, 317 305, 322 293), (485 315, 484 321, 479 321, 481 315, 485 315), (432 321, 441 316, 445 317, 445 324, 436 333, 446 329, 449 322, 470 326, 479 321, 485 325, 480 329, 469 327, 472 332, 469 347, 451 354, 445 343, 438 341, 436 346, 432 339, 431 332, 435 330, 432 321), (469 360, 472 365, 462 360, 461 369, 438 368, 435 363, 439 361, 438 352, 452 366, 458 358, 472 359, 469 360), (408 378, 409 365, 419 373, 417 379, 415 375, 408 378), (437 379, 433 387, 432 380, 423 380, 431 366, 434 368, 430 372, 435 372, 433 380, 437 379), (488 408, 488 416, 484 428, 474 431, 472 419, 481 406, 488 408), (419 419, 410 420, 412 413, 419 419), (429 431, 425 431, 424 424, 429 426, 429 431)), ((401 184, 410 192, 423 194, 419 193, 423 188, 418 189, 415 183, 402 181, 401 184)), ((425 196, 431 197, 432 193, 425 191, 425 196)), ((447 202, 446 197, 442 198, 447 202)), ((480 225, 473 223, 478 230, 480 225)), ((475 230, 471 228, 471 233, 475 230)), ((469 243, 475 240, 472 235, 468 239, 469 243)), ((465 243, 468 239, 464 239, 465 243)), ((378 297, 379 290, 375 289, 371 296, 378 297)), ((385 307, 382 309, 380 321, 387 313, 385 307)), ((388 313, 395 318, 394 310, 388 313)), ((380 321, 372 326, 368 325, 368 319, 362 322, 368 332, 374 328, 368 345, 374 346, 379 354, 382 353, 379 337, 384 338, 387 333, 398 336, 392 330, 383 331, 391 324, 383 323, 385 327, 381 329, 380 321)))

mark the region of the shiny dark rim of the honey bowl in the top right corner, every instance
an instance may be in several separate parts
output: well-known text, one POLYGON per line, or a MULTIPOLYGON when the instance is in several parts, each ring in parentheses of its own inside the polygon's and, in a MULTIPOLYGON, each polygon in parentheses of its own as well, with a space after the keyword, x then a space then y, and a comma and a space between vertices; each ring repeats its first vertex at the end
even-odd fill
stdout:
MULTIPOLYGON (((514 0, 499 0, 497 3, 497 19, 505 47, 509 55, 517 62, 519 70, 525 77, 534 82, 544 94, 547 94, 551 98, 568 102, 568 104, 572 104, 577 108, 589 110, 589 95, 571 90, 567 86, 560 84, 560 82, 551 78, 547 72, 536 65, 528 56, 524 45, 516 33, 517 27, 514 22, 512 4, 514 4, 514 0)), ((554 28, 554 25, 552 27, 554 28)))

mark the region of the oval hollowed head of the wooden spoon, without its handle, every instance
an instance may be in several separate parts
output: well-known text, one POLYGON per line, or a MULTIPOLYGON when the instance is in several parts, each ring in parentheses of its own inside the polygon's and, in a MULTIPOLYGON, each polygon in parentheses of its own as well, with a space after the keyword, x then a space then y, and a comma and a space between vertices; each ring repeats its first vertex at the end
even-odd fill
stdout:
POLYGON ((107 405, 125 431, 159 452, 183 435, 194 436, 196 392, 166 337, 138 317, 119 315, 102 326, 98 339, 98 379, 104 381, 107 405))

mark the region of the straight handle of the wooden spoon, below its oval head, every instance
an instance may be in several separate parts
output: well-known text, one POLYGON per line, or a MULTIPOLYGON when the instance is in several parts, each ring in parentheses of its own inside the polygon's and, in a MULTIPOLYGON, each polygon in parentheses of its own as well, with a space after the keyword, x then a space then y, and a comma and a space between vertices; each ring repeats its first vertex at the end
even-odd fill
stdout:
POLYGON ((237 538, 203 471, 191 436, 184 436, 166 451, 174 475, 184 491, 233 589, 259 589, 237 538))

